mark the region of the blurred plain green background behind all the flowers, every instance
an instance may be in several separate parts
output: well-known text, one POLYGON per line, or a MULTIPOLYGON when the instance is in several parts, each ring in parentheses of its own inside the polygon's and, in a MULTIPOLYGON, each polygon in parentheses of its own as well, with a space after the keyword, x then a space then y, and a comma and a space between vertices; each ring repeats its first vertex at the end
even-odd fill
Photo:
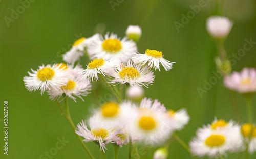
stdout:
MULTIPOLYGON (((203 1, 203 0, 201 0, 203 1)), ((139 52, 156 49, 164 53, 164 58, 176 61, 168 72, 161 68, 155 71, 154 85, 145 89, 146 96, 159 99, 167 108, 186 108, 190 121, 177 134, 185 141, 195 136, 198 127, 214 120, 214 116, 225 120, 236 120, 229 92, 222 79, 200 97, 197 88, 204 87, 216 71, 214 58, 216 46, 206 32, 205 21, 214 15, 216 1, 205 1, 189 22, 178 32, 174 22, 180 22, 182 15, 191 11, 190 6, 199 1, 8 1, 0 0, 0 145, 4 145, 3 118, 4 100, 9 102, 9 155, 1 150, 0 158, 40 158, 45 151, 55 147, 58 139, 69 141, 52 158, 89 158, 76 139, 68 122, 63 118, 55 102, 47 94, 28 92, 23 77, 30 69, 36 70, 42 64, 62 62, 65 53, 75 39, 92 36, 96 32, 114 32, 124 36, 128 25, 140 25, 142 37, 138 42, 139 52), (22 2, 29 2, 23 6, 22 2), (116 6, 111 6, 116 3, 116 6), (114 2, 114 3, 113 3, 114 2), (24 10, 22 9, 24 8, 24 10), (15 16, 13 12, 20 12, 15 16), (13 14, 13 15, 12 15, 13 14), (13 18, 14 16, 14 18, 13 18), (10 18, 10 19, 8 19, 10 18), (8 20, 7 20, 8 19, 8 20), (9 22, 6 22, 9 21, 9 22)), ((256 2, 253 0, 225 0, 222 14, 229 17, 234 25, 224 45, 227 54, 243 48, 245 39, 256 41, 256 2)), ((233 70, 256 67, 256 45, 237 61, 233 70)), ((82 58, 85 66, 88 59, 82 58)), ((101 98, 106 92, 101 92, 101 98)), ((244 99, 235 93, 241 122, 247 121, 244 99)), ((69 100, 70 112, 75 124, 86 119, 92 103, 90 94, 82 102, 69 100)), ((255 105, 254 97, 254 105, 255 105)), ((256 110, 256 108, 254 108, 256 110)), ((256 113, 254 112, 254 115, 256 113)), ((256 117, 256 116, 255 116, 256 117)), ((96 158, 102 158, 94 143, 87 144, 96 158)), ((113 156, 113 148, 108 145, 108 158, 113 156)), ((126 158, 127 146, 121 148, 119 157, 126 158)), ((237 154, 228 158, 237 158, 237 154)), ((45 158, 50 158, 46 157, 45 158)), ((41 157, 41 158, 44 158, 41 157)), ((254 155, 253 157, 256 157, 254 155)), ((253 158, 252 157, 252 158, 253 158)), ((44 158, 44 159, 45 159, 44 158)), ((189 153, 176 141, 169 147, 168 158, 191 158, 189 153)))

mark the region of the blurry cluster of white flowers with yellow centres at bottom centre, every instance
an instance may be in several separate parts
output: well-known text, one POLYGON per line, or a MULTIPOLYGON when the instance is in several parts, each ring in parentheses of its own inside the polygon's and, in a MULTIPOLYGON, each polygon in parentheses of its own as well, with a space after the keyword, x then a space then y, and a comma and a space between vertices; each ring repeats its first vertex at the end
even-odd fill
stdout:
POLYGON ((85 142, 99 143, 103 151, 106 144, 115 143, 121 147, 129 143, 129 138, 133 143, 162 145, 188 120, 184 109, 170 113, 156 99, 143 98, 139 104, 109 101, 95 111, 88 121, 89 126, 83 121, 78 124, 76 133, 85 142))

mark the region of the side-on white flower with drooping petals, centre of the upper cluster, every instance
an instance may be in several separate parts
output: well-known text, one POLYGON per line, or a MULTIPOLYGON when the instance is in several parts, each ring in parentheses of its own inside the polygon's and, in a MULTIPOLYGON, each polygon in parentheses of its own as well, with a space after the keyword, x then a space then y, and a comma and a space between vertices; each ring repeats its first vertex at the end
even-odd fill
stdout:
POLYGON ((88 63, 87 69, 81 72, 82 76, 81 79, 90 79, 93 81, 95 78, 98 81, 98 73, 105 76, 111 69, 120 65, 120 60, 113 58, 108 61, 103 60, 103 58, 95 58, 91 62, 88 63))

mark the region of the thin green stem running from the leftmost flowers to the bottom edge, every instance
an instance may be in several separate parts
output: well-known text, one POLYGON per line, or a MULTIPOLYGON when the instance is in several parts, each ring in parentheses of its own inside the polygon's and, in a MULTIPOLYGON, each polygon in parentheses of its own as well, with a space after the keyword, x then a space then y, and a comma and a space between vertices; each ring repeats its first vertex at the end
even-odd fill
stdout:
MULTIPOLYGON (((71 116, 70 116, 69 105, 68 105, 68 100, 67 100, 67 98, 64 99, 64 102, 65 102, 65 110, 66 110, 67 120, 68 120, 69 124, 71 125, 73 131, 75 132, 76 127, 75 127, 75 125, 74 125, 74 123, 73 123, 73 121, 72 121, 72 119, 71 119, 71 116)), ((82 141, 82 138, 81 138, 79 135, 77 135, 77 134, 75 134, 75 135, 76 135, 76 137, 78 138, 79 142, 82 144, 84 150, 86 150, 86 152, 88 153, 89 157, 90 157, 91 159, 94 159, 92 153, 91 153, 90 150, 87 148, 86 144, 84 144, 84 142, 82 141)))

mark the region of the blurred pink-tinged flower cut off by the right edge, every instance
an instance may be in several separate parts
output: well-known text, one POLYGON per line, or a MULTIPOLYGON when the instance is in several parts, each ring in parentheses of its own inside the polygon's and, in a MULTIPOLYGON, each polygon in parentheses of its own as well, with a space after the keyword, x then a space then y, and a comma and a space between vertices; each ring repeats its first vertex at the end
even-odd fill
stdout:
POLYGON ((224 85, 239 93, 256 92, 256 69, 244 68, 241 72, 233 72, 224 77, 224 85))

